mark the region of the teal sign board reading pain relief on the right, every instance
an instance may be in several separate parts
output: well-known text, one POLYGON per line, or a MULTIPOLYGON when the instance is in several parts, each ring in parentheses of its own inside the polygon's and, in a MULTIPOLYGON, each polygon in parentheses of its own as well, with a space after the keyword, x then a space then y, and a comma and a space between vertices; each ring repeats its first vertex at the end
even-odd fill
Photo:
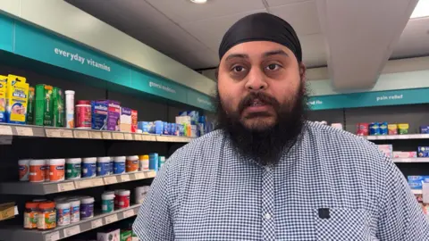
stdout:
POLYGON ((311 96, 311 110, 429 103, 429 88, 400 89, 347 95, 311 96))

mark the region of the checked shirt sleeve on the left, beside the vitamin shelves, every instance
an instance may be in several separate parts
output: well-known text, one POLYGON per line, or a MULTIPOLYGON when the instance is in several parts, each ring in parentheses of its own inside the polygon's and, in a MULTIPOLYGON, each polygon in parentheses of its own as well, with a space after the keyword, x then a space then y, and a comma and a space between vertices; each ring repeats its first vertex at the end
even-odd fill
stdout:
POLYGON ((137 219, 132 225, 134 233, 140 240, 170 241, 174 240, 172 214, 168 198, 168 168, 164 164, 152 182, 145 202, 139 210, 137 219))

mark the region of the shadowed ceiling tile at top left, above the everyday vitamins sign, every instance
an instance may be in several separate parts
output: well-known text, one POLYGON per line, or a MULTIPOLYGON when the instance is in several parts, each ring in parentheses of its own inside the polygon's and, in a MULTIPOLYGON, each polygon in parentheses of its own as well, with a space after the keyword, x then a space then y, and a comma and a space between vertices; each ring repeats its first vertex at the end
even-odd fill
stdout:
POLYGON ((88 0, 66 1, 122 31, 149 29, 171 22, 143 0, 109 0, 108 4, 88 0))

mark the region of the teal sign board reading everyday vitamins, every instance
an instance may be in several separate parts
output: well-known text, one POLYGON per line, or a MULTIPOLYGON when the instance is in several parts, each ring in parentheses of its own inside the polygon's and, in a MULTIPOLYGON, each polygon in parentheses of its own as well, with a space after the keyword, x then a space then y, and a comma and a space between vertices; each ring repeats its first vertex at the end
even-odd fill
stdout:
POLYGON ((130 70, 121 62, 21 22, 15 26, 14 54, 130 87, 130 70))

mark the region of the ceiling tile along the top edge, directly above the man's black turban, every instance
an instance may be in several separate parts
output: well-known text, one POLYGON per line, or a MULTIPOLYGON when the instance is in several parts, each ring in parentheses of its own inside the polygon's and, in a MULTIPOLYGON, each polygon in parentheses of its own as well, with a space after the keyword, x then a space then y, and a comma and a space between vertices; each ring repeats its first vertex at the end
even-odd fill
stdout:
POLYGON ((158 11, 164 12, 178 23, 201 21, 265 8, 261 0, 208 0, 206 4, 193 4, 189 0, 146 0, 158 11))

